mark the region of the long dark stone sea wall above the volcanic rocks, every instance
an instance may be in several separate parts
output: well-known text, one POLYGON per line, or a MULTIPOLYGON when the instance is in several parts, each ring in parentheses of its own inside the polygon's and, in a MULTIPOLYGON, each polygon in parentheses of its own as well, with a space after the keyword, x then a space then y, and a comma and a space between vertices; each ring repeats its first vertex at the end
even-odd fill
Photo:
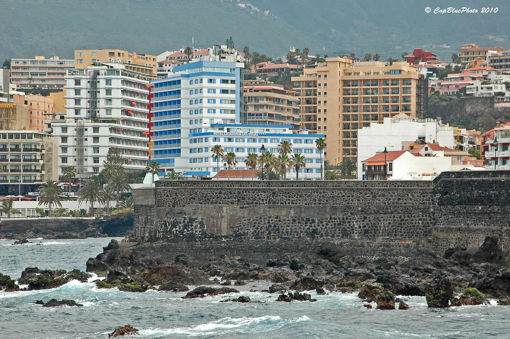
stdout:
POLYGON ((161 180, 133 190, 135 237, 168 255, 219 253, 263 262, 319 246, 409 257, 478 247, 507 253, 510 171, 446 172, 434 181, 161 180))

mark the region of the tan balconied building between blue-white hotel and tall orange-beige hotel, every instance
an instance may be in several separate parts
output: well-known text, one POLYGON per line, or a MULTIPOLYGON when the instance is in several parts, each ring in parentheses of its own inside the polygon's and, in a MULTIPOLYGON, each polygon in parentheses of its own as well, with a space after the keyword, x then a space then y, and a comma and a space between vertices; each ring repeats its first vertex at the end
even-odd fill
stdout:
POLYGON ((299 129, 299 94, 271 81, 244 81, 244 123, 292 125, 299 129))

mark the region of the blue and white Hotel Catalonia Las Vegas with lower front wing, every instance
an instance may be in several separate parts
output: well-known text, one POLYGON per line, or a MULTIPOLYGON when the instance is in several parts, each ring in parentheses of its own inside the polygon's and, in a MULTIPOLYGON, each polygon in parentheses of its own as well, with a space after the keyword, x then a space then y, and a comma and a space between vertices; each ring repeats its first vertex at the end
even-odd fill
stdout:
MULTIPOLYGON (((235 50, 215 46, 210 55, 175 66, 167 78, 151 81, 149 156, 161 163, 162 176, 170 171, 186 177, 215 176, 211 148, 217 144, 225 153, 236 153, 237 165, 231 169, 247 169, 244 160, 249 152, 260 154, 264 144, 277 156, 278 143, 288 140, 293 153, 306 159, 299 178, 320 178, 315 140, 324 135, 294 133, 286 125, 244 124, 243 69, 235 50)), ((222 165, 220 160, 220 169, 226 169, 222 165)), ((294 168, 287 178, 295 178, 294 168)))

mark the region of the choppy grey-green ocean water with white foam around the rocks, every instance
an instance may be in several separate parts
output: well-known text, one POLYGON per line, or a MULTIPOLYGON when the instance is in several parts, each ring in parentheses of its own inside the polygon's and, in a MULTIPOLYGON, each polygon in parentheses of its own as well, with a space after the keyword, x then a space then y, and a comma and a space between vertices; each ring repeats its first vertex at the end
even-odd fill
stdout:
MULTIPOLYGON (((85 270, 85 262, 102 252, 110 238, 33 240, 10 246, 0 240, 0 272, 19 278, 25 267, 85 270)), ((185 293, 98 289, 92 282, 71 281, 61 287, 0 292, 0 338, 106 338, 116 327, 131 324, 140 338, 510 338, 510 306, 492 305, 428 309, 424 297, 409 297, 410 310, 363 307, 355 294, 329 293, 318 301, 276 302, 277 295, 249 292, 270 283, 235 286, 240 293, 181 299, 185 293), (257 286, 257 287, 253 287, 257 286), (240 295, 251 303, 220 303, 240 295), (73 299, 83 307, 43 308, 42 299, 73 299)), ((190 289, 194 286, 189 286, 190 289)))

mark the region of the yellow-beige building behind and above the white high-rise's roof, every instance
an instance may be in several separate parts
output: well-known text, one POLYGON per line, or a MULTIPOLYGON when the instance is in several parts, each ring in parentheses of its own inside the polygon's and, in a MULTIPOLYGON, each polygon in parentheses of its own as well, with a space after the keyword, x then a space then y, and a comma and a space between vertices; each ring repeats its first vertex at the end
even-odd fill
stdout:
POLYGON ((158 63, 155 55, 129 53, 122 50, 75 50, 74 67, 87 68, 96 62, 115 62, 124 64, 134 72, 156 77, 158 63))

